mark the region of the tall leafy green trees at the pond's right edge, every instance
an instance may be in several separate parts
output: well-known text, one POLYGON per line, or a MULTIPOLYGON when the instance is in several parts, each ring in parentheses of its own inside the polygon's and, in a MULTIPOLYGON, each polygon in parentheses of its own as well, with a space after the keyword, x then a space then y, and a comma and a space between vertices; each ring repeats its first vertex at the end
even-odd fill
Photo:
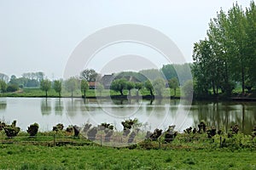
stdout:
POLYGON ((256 85, 256 6, 237 3, 210 20, 207 37, 193 51, 195 94, 226 94, 240 87, 241 94, 256 85))

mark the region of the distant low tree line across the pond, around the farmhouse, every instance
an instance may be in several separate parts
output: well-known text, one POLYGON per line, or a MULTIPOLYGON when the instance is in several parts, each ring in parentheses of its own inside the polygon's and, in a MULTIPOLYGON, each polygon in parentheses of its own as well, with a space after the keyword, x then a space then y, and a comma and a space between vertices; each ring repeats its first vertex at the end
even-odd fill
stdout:
MULTIPOLYGON (((176 89, 180 86, 180 83, 185 82, 186 77, 189 77, 186 69, 189 64, 185 65, 163 65, 160 69, 148 69, 143 71, 123 71, 120 73, 114 73, 114 80, 111 83, 110 89, 119 92, 121 95, 124 95, 123 90, 127 89, 129 95, 131 95, 131 89, 137 89, 137 95, 139 90, 146 88, 153 96, 162 95, 163 90, 169 86, 174 89, 176 95, 176 89), (183 71, 183 80, 178 81, 177 70, 183 71), (186 75, 187 74, 187 75, 186 75), (137 82, 132 82, 125 77, 134 77, 137 79, 137 82)), ((102 94, 104 88, 103 82, 101 80, 102 75, 97 73, 93 69, 85 69, 81 71, 79 76, 70 77, 67 80, 55 80, 50 81, 44 76, 43 72, 35 73, 24 73, 22 77, 11 76, 10 79, 6 76, 5 79, 0 80, 0 90, 2 92, 15 92, 19 88, 27 87, 37 87, 42 89, 45 92, 45 96, 48 96, 49 89, 55 89, 55 92, 61 97, 61 92, 67 90, 73 93, 80 89, 83 95, 86 95, 87 90, 90 88, 90 82, 94 82, 93 88, 96 88, 96 91, 102 94), (8 82, 9 79, 9 82, 8 82), (12 88, 12 89, 9 89, 12 88)))

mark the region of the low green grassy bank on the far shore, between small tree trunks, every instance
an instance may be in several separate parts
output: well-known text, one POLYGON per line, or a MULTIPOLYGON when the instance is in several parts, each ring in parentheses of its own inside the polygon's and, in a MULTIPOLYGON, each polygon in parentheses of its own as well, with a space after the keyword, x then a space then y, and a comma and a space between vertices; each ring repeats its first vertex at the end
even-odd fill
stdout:
MULTIPOLYGON (((131 96, 136 96, 136 90, 131 90, 131 96)), ((128 94, 128 90, 124 90, 124 94, 128 94)), ((115 92, 113 90, 109 89, 104 89, 102 93, 96 92, 95 89, 89 89, 86 92, 86 96, 89 98, 95 98, 96 96, 101 96, 101 97, 107 97, 107 96, 119 96, 120 94, 118 92, 115 92)), ((143 89, 140 91, 140 95, 147 96, 150 95, 149 91, 147 89, 143 89)), ((163 97, 168 97, 168 96, 173 96, 174 91, 171 88, 166 88, 163 94, 163 97)), ((73 97, 81 97, 82 93, 79 90, 76 90, 73 92, 73 97)), ((45 97, 45 92, 42 91, 40 88, 23 88, 20 89, 18 92, 15 93, 3 93, 0 94, 0 97, 45 97)), ((59 94, 55 92, 54 89, 50 89, 48 92, 48 97, 49 98, 58 98, 59 94)), ((67 91, 63 91, 61 94, 61 97, 71 97, 71 93, 67 91)), ((177 89, 176 92, 176 97, 180 97, 180 90, 177 89)))

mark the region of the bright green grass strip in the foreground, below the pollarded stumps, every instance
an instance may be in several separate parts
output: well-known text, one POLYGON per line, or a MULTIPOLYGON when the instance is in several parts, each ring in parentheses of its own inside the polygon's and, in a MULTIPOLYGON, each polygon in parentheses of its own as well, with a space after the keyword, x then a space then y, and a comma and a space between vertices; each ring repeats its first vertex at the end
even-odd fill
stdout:
POLYGON ((256 169, 250 150, 129 150, 0 144, 0 169, 256 169))

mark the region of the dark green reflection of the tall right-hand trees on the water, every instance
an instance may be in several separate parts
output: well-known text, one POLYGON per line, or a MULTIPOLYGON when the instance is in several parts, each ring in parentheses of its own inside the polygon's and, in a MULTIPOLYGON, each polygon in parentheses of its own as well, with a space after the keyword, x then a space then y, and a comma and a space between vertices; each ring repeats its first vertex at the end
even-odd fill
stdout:
POLYGON ((238 124, 242 133, 250 133, 253 125, 256 123, 255 112, 247 111, 245 104, 237 104, 232 102, 216 102, 216 103, 195 103, 196 110, 191 110, 194 117, 194 127, 199 122, 204 121, 208 127, 214 126, 217 129, 222 128, 224 132, 228 132, 230 126, 238 124))

